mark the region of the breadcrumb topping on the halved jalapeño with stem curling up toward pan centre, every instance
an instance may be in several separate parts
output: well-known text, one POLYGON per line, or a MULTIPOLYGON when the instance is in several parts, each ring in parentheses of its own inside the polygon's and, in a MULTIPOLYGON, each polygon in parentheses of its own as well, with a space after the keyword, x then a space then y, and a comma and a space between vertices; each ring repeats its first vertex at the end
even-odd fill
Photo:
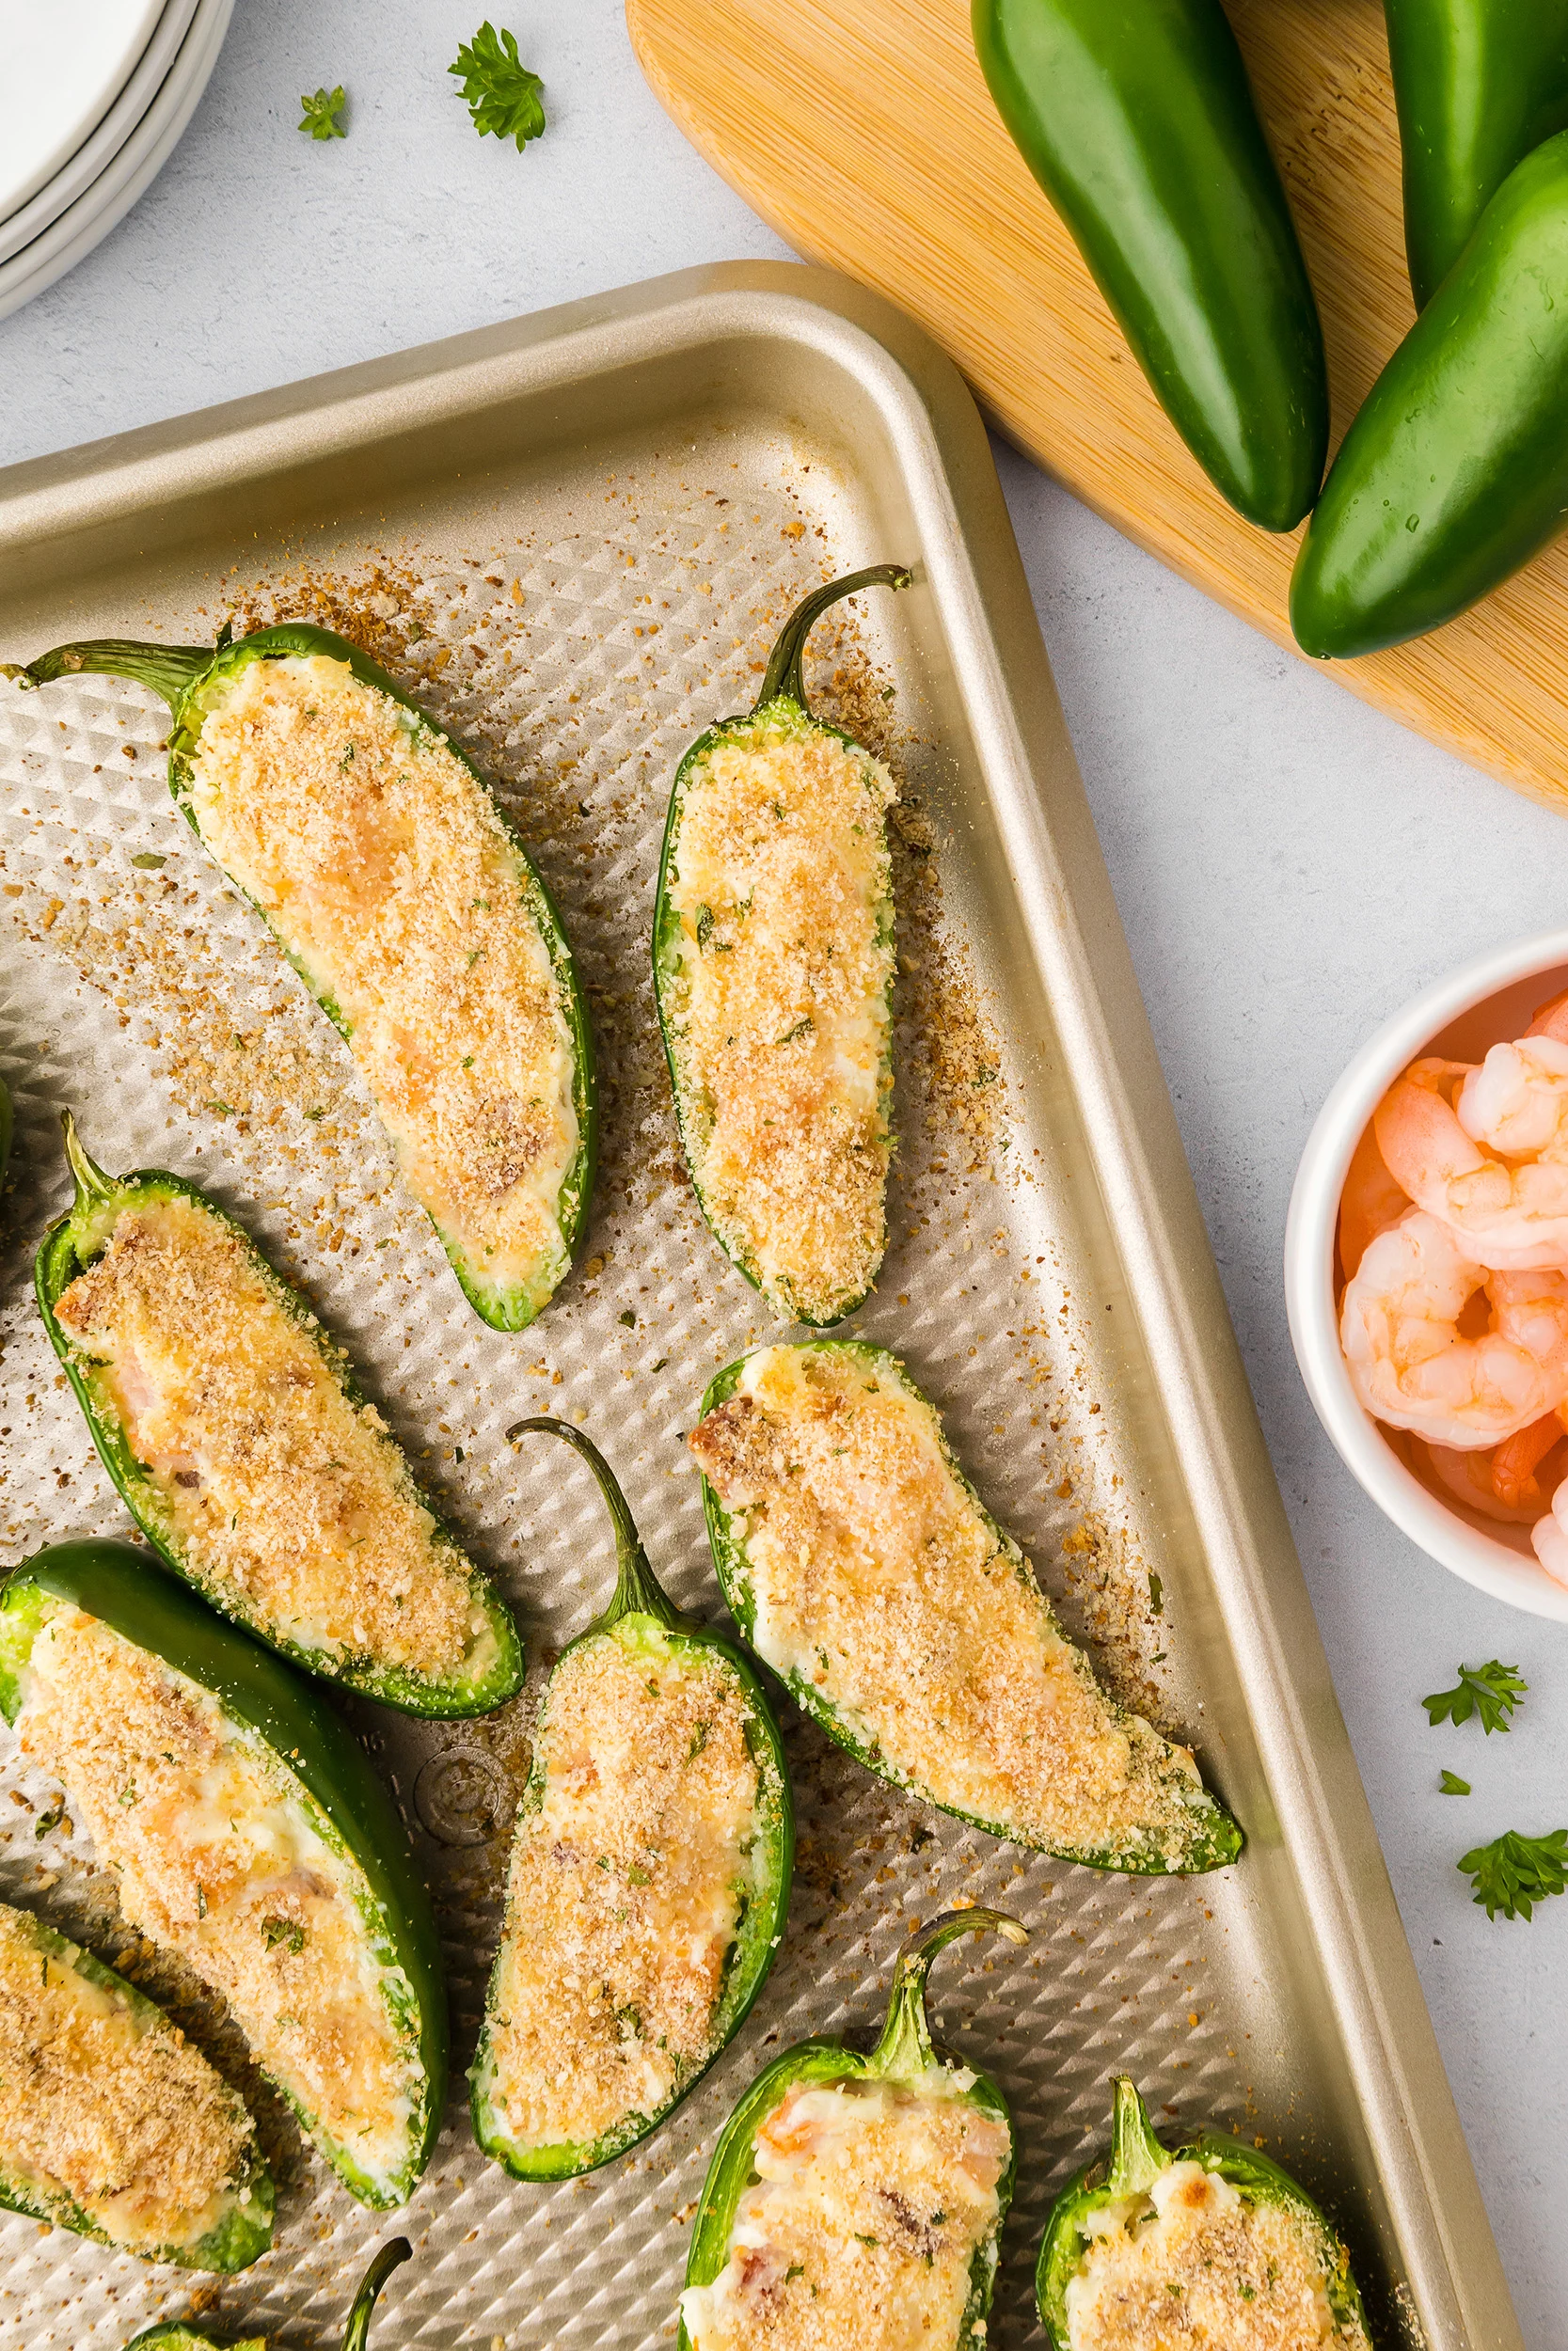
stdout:
POLYGON ((762 1893, 759 1768, 712 1653, 616 1627, 555 1669, 491 1996, 491 2102, 522 2146, 654 2116, 715 2052, 762 1893))

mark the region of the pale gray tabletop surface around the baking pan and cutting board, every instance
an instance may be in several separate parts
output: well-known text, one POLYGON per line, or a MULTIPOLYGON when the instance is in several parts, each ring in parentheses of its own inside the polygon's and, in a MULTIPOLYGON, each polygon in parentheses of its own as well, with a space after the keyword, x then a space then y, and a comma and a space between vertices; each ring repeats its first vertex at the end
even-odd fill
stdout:
MULTIPOLYGON (((242 0, 190 132, 71 277, 0 322, 0 463, 778 240, 684 146, 618 0, 510 9, 552 127, 520 158, 444 66, 473 0, 242 0), (346 82, 350 136, 299 136, 346 82)), ((1479 947, 1563 919, 1559 818, 1361 708, 999 451, 1253 1392, 1530 2351, 1568 2339, 1568 1900, 1488 1923, 1453 1869, 1568 1820, 1568 1632, 1389 1528, 1300 1387, 1291 1176, 1359 1039, 1479 947), (1530 1679, 1512 1737, 1429 1730, 1460 1657, 1530 1679), (1474 1780, 1439 1799, 1441 1766, 1474 1780), (1552 1984, 1559 1991, 1552 1991, 1552 1984)))

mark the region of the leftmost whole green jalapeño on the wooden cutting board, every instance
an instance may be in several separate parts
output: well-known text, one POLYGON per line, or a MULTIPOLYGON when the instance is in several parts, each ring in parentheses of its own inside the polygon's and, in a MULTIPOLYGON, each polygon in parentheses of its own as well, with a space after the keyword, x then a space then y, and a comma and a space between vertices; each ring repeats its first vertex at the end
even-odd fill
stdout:
POLYGON ((1307 263, 1220 0, 973 0, 997 113, 1208 480, 1293 531, 1324 477, 1307 263))

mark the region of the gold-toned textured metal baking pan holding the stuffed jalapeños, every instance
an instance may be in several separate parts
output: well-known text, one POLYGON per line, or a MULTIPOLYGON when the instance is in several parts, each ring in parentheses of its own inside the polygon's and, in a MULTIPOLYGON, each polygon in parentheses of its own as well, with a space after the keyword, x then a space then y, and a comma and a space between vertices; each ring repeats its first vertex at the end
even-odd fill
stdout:
POLYGON ((28 1288, 68 1197, 68 1105, 108 1168, 193 1176, 310 1293, 515 1601, 531 1662, 487 1721, 348 1709, 435 1888, 456 2038, 440 2149, 393 2222, 301 2149, 233 2027, 118 1921, 85 1836, 47 1824, 54 1791, 0 1751, 0 1895, 176 2001, 256 2099, 282 2182, 275 2250, 195 2290, 0 2222, 0 2346, 108 2351, 190 2309, 336 2342, 393 2229, 416 2259, 383 2297, 386 2342, 670 2342, 731 2102, 795 2038, 875 2031, 900 1937, 952 1902, 1011 1909, 1032 1937, 961 1944, 933 1994, 1020 2135, 994 2344, 1039 2339, 1044 2212, 1103 2142, 1121 2069, 1161 2125, 1215 2121, 1300 2170, 1387 2342, 1516 2344, 985 442, 945 362, 882 336, 891 313, 813 273, 708 273, 0 477, 0 658, 320 618, 456 731, 562 905, 604 1110, 574 1277, 531 1331, 482 1328, 334 1030, 176 813, 162 705, 113 679, 0 682, 0 1067, 19 1112, 0 1561, 127 1531, 28 1288), (1067 1625, 1197 1744, 1251 1843, 1211 1878, 1095 1876, 900 1799, 790 1712, 799 1864, 750 2022, 651 2142, 522 2186, 473 2144, 461 2067, 538 1690, 614 1570, 588 1474, 505 1429, 581 1422, 672 1596, 722 1613, 684 1432, 715 1366, 776 1326, 679 1168, 649 978, 658 837, 682 748, 752 701, 792 600, 877 560, 917 562, 917 588, 842 609, 811 661, 820 710, 903 795, 893 1239, 853 1328, 905 1357, 1067 1625))

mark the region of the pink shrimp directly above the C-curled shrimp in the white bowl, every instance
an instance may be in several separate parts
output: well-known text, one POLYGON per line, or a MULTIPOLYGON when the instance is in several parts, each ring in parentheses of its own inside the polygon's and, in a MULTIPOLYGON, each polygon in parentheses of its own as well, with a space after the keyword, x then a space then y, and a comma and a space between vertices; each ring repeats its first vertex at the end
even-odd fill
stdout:
POLYGON ((1389 1173, 1418 1208, 1453 1230, 1474 1265, 1505 1272, 1568 1265, 1568 1157, 1512 1166, 1483 1150, 1450 1100, 1469 1077, 1469 1063, 1418 1060, 1389 1086, 1373 1117, 1389 1173))

